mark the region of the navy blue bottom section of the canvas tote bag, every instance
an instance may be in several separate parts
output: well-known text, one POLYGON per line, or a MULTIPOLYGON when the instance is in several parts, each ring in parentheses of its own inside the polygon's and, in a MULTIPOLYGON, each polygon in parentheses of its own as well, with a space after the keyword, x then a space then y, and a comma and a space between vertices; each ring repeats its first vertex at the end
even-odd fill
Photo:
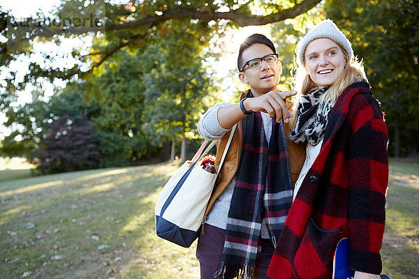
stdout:
POLYGON ((182 229, 168 220, 156 216, 156 232, 157 236, 160 236, 162 239, 184 248, 189 248, 193 241, 198 238, 200 229, 198 229, 198 232, 194 232, 191 229, 182 229))

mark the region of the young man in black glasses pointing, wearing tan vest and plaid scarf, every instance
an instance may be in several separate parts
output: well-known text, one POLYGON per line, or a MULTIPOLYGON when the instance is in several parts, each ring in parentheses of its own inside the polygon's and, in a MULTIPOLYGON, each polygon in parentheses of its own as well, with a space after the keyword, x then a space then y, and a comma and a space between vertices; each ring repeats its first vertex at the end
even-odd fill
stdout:
POLYGON ((304 147, 288 142, 292 116, 279 92, 281 75, 274 44, 260 34, 240 46, 239 78, 250 89, 240 103, 223 102, 198 123, 206 140, 217 143, 219 177, 205 213, 197 257, 201 278, 268 278, 267 267, 291 208, 293 183, 304 163, 304 147), (222 169, 230 129, 238 123, 222 169))

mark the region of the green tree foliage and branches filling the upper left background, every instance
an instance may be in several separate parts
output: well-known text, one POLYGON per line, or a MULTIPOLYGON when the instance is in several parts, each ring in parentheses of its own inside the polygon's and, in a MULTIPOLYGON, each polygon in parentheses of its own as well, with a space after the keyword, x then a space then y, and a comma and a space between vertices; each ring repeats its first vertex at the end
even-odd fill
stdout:
POLYGON ((0 108, 13 132, 3 141, 0 153, 35 158, 51 123, 64 115, 85 113, 100 135, 102 166, 136 163, 158 156, 169 140, 196 139, 199 115, 212 105, 209 100, 217 91, 201 63, 210 38, 216 33, 222 36, 228 24, 256 24, 266 20, 263 15, 273 16, 270 22, 281 21, 294 13, 287 8, 300 5, 297 10, 304 13, 315 3, 66 0, 47 16, 52 20, 49 23, 42 13, 19 22, 1 10, 0 35, 8 41, 1 45, 5 68, 0 108), (96 20, 99 25, 92 25, 96 20), (27 22, 29 29, 24 27, 27 22), (35 47, 36 43, 61 45, 66 38, 92 38, 93 45, 89 50, 75 47, 73 63, 59 67, 54 62, 67 54, 35 47), (34 59, 34 54, 43 59, 34 59), (30 61, 27 72, 10 70, 11 61, 22 56, 30 61), (42 84, 58 79, 79 84, 48 100, 42 84), (27 84, 38 88, 33 101, 16 105, 27 84))

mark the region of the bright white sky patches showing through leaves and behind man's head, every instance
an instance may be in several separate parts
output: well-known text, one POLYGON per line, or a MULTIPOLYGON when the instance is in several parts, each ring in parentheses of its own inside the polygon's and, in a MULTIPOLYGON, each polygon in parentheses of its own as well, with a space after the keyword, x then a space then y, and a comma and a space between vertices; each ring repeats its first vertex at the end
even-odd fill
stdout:
MULTIPOLYGON (((115 2, 125 2, 121 0, 117 0, 115 2)), ((3 10, 11 10, 11 13, 17 18, 26 18, 31 17, 36 14, 36 11, 41 11, 45 15, 49 15, 52 10, 54 10, 54 6, 57 6, 60 3, 59 0, 20 0, 20 1, 10 1, 10 0, 0 0, 0 6, 3 10)), ((216 22, 214 22, 216 24, 216 22)), ((252 33, 265 33, 269 34, 269 29, 267 27, 244 27, 237 31, 236 29, 233 31, 227 31, 225 33, 224 38, 219 38, 219 36, 214 36, 212 40, 221 40, 223 42, 223 47, 216 48, 214 51, 219 52, 222 54, 221 59, 216 61, 213 59, 209 61, 212 65, 212 68, 215 71, 217 77, 223 78, 223 84, 220 84, 221 89, 227 93, 226 99, 229 98, 228 94, 237 91, 235 84, 237 84, 237 70, 236 63, 237 63, 237 52, 240 47, 240 43, 247 38, 247 36, 251 35, 252 33), (235 76, 231 75, 231 71, 235 73, 235 76), (233 79, 236 79, 236 82, 233 82, 233 79)), ((0 38, 1 40, 1 38, 0 38)), ((91 45, 91 40, 67 40, 66 43, 62 43, 59 47, 54 45, 53 43, 46 43, 46 44, 34 44, 34 49, 40 49, 43 52, 51 52, 51 53, 61 53, 66 54, 71 52, 74 45, 78 45, 78 47, 84 47, 86 52, 89 50, 89 46, 91 45)), ((20 73, 20 77, 23 77, 25 72, 27 71, 29 61, 34 60, 38 61, 38 63, 45 63, 42 59, 41 53, 34 53, 31 57, 22 57, 19 61, 15 61, 10 64, 10 70, 17 71, 20 73)), ((54 66, 61 68, 63 66, 72 67, 75 63, 75 59, 72 59, 71 56, 64 57, 63 59, 58 59, 55 61, 56 63, 54 66)), ((0 85, 1 80, 3 80, 4 75, 7 75, 5 70, 2 70, 0 67, 0 85)), ((60 82, 59 80, 54 84, 45 83, 43 85, 43 91, 45 92, 45 96, 51 96, 53 93, 54 86, 65 86, 64 82, 60 82)), ((27 88, 20 92, 19 98, 17 100, 17 104, 23 104, 27 102, 31 102, 32 95, 31 91, 34 90, 32 86, 27 86, 27 88)), ((0 140, 3 140, 4 135, 9 135, 10 131, 6 129, 1 123, 6 121, 6 116, 0 113, 0 140)))

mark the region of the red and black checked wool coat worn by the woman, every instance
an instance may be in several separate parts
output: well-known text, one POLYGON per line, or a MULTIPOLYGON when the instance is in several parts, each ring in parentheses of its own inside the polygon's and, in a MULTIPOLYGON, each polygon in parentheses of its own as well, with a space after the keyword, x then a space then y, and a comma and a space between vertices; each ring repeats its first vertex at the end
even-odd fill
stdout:
POLYGON ((349 267, 381 273, 379 250, 388 185, 387 128, 367 82, 341 94, 323 146, 293 202, 268 275, 332 278, 339 239, 350 239, 349 267))

